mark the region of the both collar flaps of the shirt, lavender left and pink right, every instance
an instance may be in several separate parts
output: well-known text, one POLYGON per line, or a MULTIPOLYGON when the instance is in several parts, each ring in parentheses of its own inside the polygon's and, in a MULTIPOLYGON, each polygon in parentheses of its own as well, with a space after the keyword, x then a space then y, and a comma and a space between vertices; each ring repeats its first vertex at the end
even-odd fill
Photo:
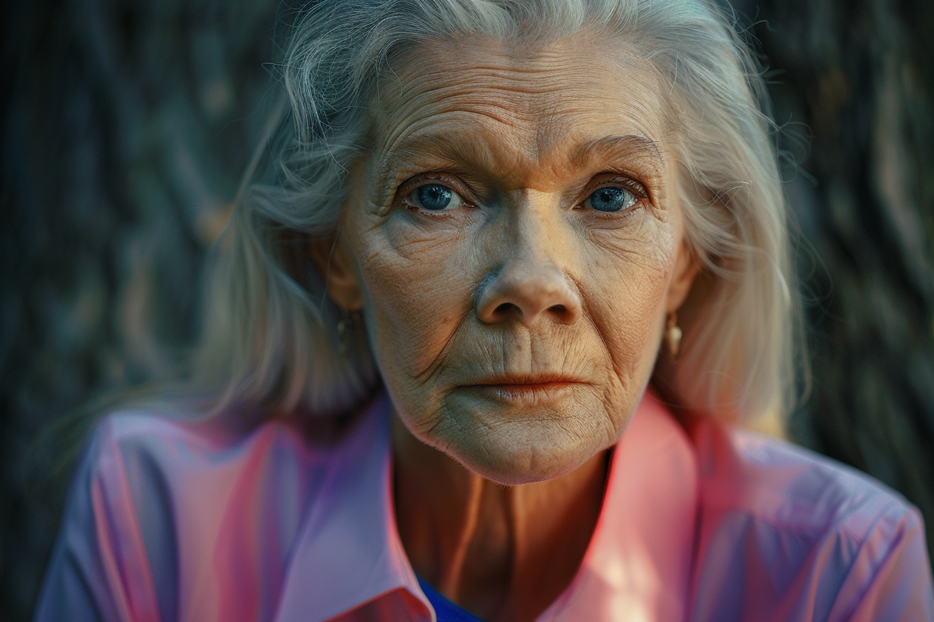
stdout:
MULTIPOLYGON (((697 506, 688 438, 646 393, 616 445, 581 568, 539 619, 683 618, 697 506)), ((396 529, 386 396, 333 452, 306 511, 276 620, 323 622, 375 601, 387 601, 400 617, 434 617, 396 529)))

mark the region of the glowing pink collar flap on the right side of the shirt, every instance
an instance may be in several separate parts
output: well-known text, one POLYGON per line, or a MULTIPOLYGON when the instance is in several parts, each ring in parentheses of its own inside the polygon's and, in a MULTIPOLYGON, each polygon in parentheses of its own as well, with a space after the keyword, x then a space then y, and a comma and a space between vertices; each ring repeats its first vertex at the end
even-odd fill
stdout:
POLYGON ((539 620, 684 619, 699 494, 688 436, 646 392, 616 444, 581 568, 539 620))

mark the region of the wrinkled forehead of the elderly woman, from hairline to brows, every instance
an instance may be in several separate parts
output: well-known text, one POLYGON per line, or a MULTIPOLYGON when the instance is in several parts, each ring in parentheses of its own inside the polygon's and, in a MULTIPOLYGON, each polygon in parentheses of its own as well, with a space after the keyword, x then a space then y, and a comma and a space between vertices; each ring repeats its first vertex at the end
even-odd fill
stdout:
POLYGON ((376 89, 371 138, 379 160, 419 137, 447 135, 494 152, 490 158, 556 161, 607 136, 663 148, 668 108, 654 67, 604 35, 550 43, 463 37, 392 60, 376 89))

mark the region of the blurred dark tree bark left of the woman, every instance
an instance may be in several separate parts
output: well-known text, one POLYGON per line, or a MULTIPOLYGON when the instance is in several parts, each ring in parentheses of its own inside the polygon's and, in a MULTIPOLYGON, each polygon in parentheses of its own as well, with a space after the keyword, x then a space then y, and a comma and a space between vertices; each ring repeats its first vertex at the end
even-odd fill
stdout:
POLYGON ((80 447, 50 424, 191 344, 205 249, 265 123, 278 7, 4 4, 0 620, 31 616, 80 447))

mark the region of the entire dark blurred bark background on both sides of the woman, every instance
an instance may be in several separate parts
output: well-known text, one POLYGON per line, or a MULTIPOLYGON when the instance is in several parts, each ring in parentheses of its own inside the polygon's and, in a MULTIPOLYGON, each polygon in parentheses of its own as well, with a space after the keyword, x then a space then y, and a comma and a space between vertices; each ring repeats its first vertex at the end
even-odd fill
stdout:
MULTIPOLYGON (((791 435, 934 525, 934 3, 733 6, 800 226, 813 386, 791 435)), ((31 615, 79 407, 191 344, 289 20, 274 0, 3 5, 0 621, 31 615)))

